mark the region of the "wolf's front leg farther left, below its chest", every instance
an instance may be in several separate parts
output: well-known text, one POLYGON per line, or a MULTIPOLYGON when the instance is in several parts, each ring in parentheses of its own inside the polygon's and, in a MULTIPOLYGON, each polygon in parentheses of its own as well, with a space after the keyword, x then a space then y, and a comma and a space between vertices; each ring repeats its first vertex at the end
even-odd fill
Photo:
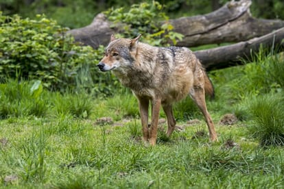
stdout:
POLYGON ((149 99, 143 97, 137 97, 139 101, 139 110, 141 116, 142 132, 143 132, 143 142, 148 142, 149 140, 149 129, 148 129, 148 108, 149 99))

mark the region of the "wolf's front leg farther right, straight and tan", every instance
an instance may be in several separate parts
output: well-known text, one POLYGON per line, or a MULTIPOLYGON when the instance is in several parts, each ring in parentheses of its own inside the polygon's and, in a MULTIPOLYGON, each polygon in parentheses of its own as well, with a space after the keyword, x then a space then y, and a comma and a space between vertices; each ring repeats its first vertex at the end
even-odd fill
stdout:
POLYGON ((150 145, 154 146, 157 141, 157 131, 158 131, 158 116, 160 114, 161 99, 152 100, 152 122, 150 127, 150 145))

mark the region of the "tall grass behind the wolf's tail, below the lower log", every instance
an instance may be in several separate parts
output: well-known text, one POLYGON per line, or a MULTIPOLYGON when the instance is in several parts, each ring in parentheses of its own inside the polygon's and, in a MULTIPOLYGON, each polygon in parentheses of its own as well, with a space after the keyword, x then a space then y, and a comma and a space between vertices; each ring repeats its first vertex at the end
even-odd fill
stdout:
POLYGON ((237 68, 212 71, 209 76, 215 86, 215 101, 226 101, 222 109, 236 110, 242 119, 246 108, 236 104, 261 94, 281 92, 284 88, 283 73, 283 54, 274 55, 261 49, 253 56, 252 62, 244 62, 237 68))

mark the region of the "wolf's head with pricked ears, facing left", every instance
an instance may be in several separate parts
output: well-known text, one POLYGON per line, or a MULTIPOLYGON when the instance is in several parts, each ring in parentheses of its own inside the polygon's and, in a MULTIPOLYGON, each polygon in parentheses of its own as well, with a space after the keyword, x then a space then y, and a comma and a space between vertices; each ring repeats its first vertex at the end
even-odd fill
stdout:
POLYGON ((134 62, 137 44, 141 34, 134 39, 110 37, 110 43, 104 51, 104 58, 97 64, 100 71, 121 70, 134 62))

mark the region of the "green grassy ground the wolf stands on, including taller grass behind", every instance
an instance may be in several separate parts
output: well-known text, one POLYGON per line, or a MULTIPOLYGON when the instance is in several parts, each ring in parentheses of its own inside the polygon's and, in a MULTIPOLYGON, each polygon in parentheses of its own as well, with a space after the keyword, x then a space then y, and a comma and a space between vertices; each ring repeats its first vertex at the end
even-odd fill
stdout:
MULTIPOLYGON (((253 128, 265 123, 255 119, 265 110, 250 111, 259 108, 260 96, 268 104, 271 99, 281 104, 283 95, 277 94, 283 93, 272 83, 257 87, 259 79, 247 74, 255 69, 261 67, 250 64, 211 73, 216 99, 208 101, 208 108, 219 142, 209 142, 202 115, 187 100, 174 110, 179 129, 167 138, 166 125, 161 123, 156 147, 142 144, 137 101, 128 92, 93 99, 47 92, 38 83, 1 84, 0 186, 283 188, 283 147, 261 146, 261 132, 253 128), (239 121, 220 124, 227 113, 234 113, 239 121), (189 125, 187 121, 193 118, 201 122, 189 125)), ((259 77, 261 73, 255 72, 259 77)), ((283 112, 281 107, 279 112, 283 112)), ((277 132, 282 136, 279 124, 277 132)))

